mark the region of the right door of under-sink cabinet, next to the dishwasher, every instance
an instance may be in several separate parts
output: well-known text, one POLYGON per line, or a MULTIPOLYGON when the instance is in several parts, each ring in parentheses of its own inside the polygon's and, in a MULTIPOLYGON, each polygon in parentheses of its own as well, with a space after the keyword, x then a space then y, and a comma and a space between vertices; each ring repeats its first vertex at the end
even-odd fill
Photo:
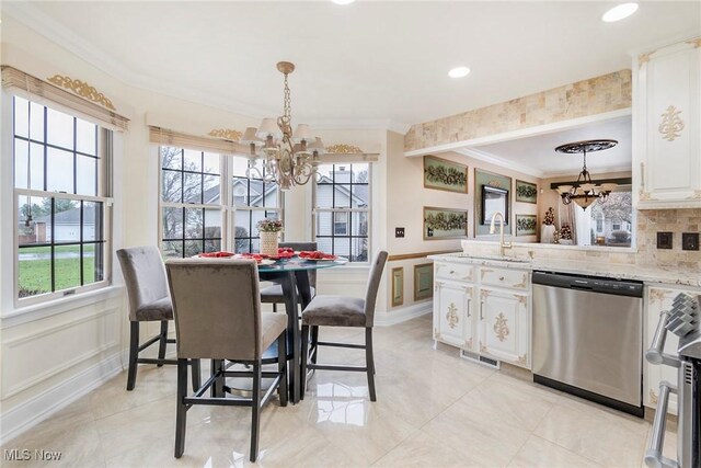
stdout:
POLYGON ((480 353, 530 367, 529 296, 482 288, 480 292, 480 353))

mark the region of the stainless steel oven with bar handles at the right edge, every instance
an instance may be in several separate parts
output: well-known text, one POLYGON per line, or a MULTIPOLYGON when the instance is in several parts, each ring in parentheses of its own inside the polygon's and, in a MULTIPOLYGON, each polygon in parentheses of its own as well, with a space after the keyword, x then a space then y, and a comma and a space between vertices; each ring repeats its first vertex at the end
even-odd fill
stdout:
POLYGON ((677 367, 677 381, 663 381, 645 464, 651 468, 701 467, 701 296, 677 295, 671 310, 659 316, 645 357, 653 364, 677 367), (663 353, 667 332, 679 336, 677 355, 663 353), (676 384, 676 385, 675 385, 676 384), (663 457, 669 395, 677 395, 677 459, 663 457))

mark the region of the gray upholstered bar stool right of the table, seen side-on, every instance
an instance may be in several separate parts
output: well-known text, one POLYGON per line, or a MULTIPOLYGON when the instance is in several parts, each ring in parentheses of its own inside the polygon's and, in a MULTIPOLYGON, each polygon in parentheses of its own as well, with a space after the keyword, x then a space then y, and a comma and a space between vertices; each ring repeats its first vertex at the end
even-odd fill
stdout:
MULTIPOLYGON (((387 252, 381 251, 375 258, 370 269, 365 299, 345 296, 317 296, 302 312, 302 398, 307 386, 307 369, 320 370, 355 370, 365 372, 368 376, 370 400, 376 401, 375 392, 375 357, 372 355, 372 326, 375 323, 375 303, 377 290, 382 279, 382 271, 387 263, 387 252), (363 327, 365 344, 332 343, 317 341, 312 355, 319 354, 319 346, 353 347, 365 350, 365 367, 336 366, 309 363, 309 332, 319 327, 363 327)), ((317 334, 313 333, 312 334, 317 334)))

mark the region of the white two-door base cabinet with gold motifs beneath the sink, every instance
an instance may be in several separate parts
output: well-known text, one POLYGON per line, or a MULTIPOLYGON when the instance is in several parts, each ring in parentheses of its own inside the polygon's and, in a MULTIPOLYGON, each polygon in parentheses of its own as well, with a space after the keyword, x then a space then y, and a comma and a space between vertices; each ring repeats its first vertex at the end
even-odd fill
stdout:
POLYGON ((530 368, 530 271, 434 262, 434 339, 530 368))

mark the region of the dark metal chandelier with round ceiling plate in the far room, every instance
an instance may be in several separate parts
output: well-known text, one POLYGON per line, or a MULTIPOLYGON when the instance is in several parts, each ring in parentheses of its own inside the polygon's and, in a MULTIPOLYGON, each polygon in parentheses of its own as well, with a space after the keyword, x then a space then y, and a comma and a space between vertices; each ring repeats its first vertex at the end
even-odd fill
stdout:
POLYGON ((591 174, 587 170, 587 152, 601 151, 605 149, 613 148, 618 145, 616 140, 585 140, 575 141, 566 145, 561 145, 555 148, 558 152, 564 152, 567 155, 583 153, 584 155, 584 168, 577 176, 577 182, 573 185, 559 185, 558 192, 562 197, 564 205, 570 205, 572 202, 579 205, 583 209, 587 209, 597 199, 606 203, 609 198, 609 194, 616 187, 614 183, 604 183, 596 185, 591 182, 591 174))

